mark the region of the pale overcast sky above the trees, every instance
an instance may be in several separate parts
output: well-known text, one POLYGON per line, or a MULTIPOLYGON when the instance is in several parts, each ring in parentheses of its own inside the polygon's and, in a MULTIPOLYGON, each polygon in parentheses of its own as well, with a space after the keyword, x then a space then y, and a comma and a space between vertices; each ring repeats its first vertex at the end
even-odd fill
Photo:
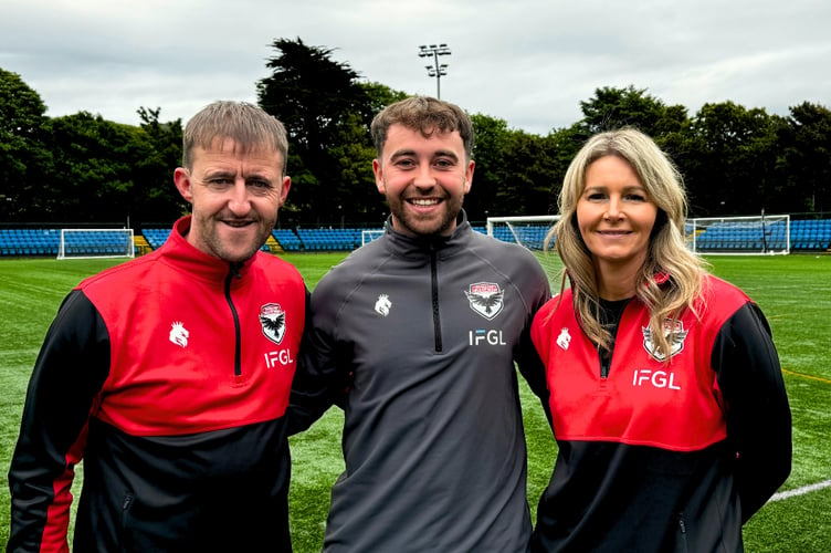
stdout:
POLYGON ((578 121, 603 86, 690 115, 726 101, 831 107, 829 0, 0 0, 0 67, 53 117, 138 124, 144 106, 187 122, 214 100, 256 102, 280 38, 429 95, 419 45, 446 43, 441 97, 535 134, 578 121))

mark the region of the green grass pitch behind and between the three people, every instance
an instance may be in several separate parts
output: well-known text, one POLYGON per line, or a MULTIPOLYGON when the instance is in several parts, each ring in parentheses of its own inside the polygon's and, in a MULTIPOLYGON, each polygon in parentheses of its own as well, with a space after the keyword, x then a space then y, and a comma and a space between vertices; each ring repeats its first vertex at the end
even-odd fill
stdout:
MULTIPOLYGON (((345 253, 284 254, 312 289, 345 253)), ((793 470, 777 500, 745 526, 756 552, 824 552, 831 543, 831 255, 713 257, 713 272, 745 290, 770 321, 793 413, 793 470), (792 494, 790 494, 792 493, 792 494)), ((9 535, 8 470, 29 375, 57 306, 84 276, 123 260, 0 261, 0 545, 9 535)), ((556 268, 556 263, 555 263, 556 268)), ((556 286, 558 286, 558 281, 556 286)), ((520 379, 522 382, 522 379, 520 379)), ((548 482, 556 445, 541 408, 522 386, 532 513, 548 482)), ((329 489, 343 470, 343 415, 330 409, 291 439, 294 550, 317 552, 329 489)), ((80 467, 77 483, 82 474, 80 467)), ((395 530, 391 530, 395 531, 395 530)))

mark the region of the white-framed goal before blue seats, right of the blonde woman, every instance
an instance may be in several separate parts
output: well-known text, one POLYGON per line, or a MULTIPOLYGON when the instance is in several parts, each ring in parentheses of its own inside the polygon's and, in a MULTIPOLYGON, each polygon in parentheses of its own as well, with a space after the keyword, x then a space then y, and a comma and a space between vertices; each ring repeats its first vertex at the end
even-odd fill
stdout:
POLYGON ((790 253, 789 215, 690 219, 685 234, 690 249, 698 253, 790 253))

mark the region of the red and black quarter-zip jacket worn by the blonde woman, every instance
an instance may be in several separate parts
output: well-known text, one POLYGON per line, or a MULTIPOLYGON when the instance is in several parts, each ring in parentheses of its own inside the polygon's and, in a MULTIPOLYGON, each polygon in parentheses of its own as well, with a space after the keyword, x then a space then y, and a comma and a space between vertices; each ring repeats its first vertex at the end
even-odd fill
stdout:
POLYGON ((559 300, 532 327, 559 446, 535 551, 741 551, 743 522, 791 463, 790 409, 761 311, 705 278, 701 320, 675 323, 666 365, 651 355, 649 312, 633 299, 603 367, 570 290, 559 300))

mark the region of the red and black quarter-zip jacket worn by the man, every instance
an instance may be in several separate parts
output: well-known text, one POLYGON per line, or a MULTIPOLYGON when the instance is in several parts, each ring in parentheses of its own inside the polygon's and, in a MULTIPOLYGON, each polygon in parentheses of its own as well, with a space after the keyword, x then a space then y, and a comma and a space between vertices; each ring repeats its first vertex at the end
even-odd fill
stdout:
POLYGON ((307 292, 285 261, 159 250, 83 281, 34 366, 9 551, 291 550, 285 410, 307 292))

